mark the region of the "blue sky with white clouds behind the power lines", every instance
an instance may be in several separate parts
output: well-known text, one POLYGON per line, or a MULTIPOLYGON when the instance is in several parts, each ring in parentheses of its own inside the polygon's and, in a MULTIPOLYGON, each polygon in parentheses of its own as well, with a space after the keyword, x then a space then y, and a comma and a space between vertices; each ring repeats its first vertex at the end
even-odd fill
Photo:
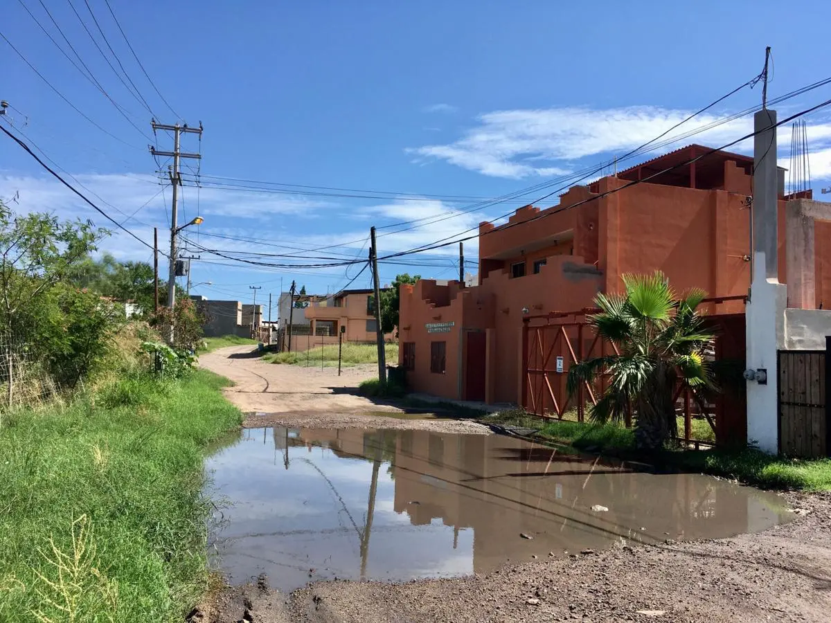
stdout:
MULTIPOLYGON (((106 2, 88 2, 150 110, 162 122, 175 122, 106 2)), ((232 255, 365 258, 371 224, 381 228, 381 254, 474 228, 558 186, 481 208, 470 208, 468 198, 525 189, 631 150, 758 74, 765 45, 774 55, 770 97, 831 75, 824 2, 792 2, 786 13, 780 2, 753 2, 752 8, 750 2, 638 2, 637 12, 622 2, 110 3, 161 95, 181 119, 204 125, 201 145, 193 136, 184 140, 185 150, 202 150, 203 187, 186 183, 181 216, 193 218, 198 207, 205 222, 188 235, 232 255), (798 32, 788 26, 794 16, 798 32), (329 195, 344 193, 320 189, 300 194, 292 191, 309 189, 288 186, 270 187, 286 191, 279 194, 219 189, 211 184, 217 178, 408 196, 338 197, 329 195), (450 201, 456 197, 461 199, 450 201), (390 225, 425 217, 435 218, 391 234, 396 228, 390 225), (436 221, 444 217, 450 218, 436 221), (259 238, 268 246, 238 238, 259 238), (342 246, 298 251, 333 244, 342 246)), ((0 99, 12 108, 0 124, 37 145, 117 220, 138 210, 125 227, 140 238, 151 242, 157 226, 164 241, 170 187, 162 189, 155 179, 157 164, 147 145, 156 140, 160 150, 170 150, 170 136, 154 137, 150 111, 127 91, 72 12, 74 6, 118 70, 84 0, 44 4, 125 115, 27 13, 24 5, 78 63, 39 1, 7 2, 0 32, 68 101, 119 140, 73 110, 2 39, 0 99)), ((745 88, 673 135, 756 105, 760 96, 760 86, 745 88)), ((831 85, 783 102, 779 116, 829 97, 831 85)), ((812 182, 819 189, 831 185, 831 115, 822 110, 806 120, 812 182)), ((750 124, 750 117, 740 118, 663 150, 690 142, 721 145, 750 131, 750 124)), ((789 143, 790 129, 783 128, 780 160, 787 160, 789 143)), ((166 167, 164 159, 160 164, 166 167)), ((185 166, 183 172, 194 179, 195 169, 185 166)), ((0 196, 17 197, 21 211, 51 210, 106 225, 5 135, 0 196)), ((475 241, 465 246, 475 260, 475 241)), ((150 259, 147 248, 123 233, 103 248, 123 259, 150 259)), ((382 265, 381 281, 405 271, 453 277, 455 253, 447 248, 418 256, 412 261, 420 266, 382 265)), ((258 296, 267 296, 278 292, 281 278, 284 288, 294 278, 309 292, 333 291, 357 272, 253 267, 201 256, 194 282, 213 285, 194 292, 211 298, 248 301, 249 285, 261 285, 258 296)), ((368 283, 364 272, 353 287, 368 283)))

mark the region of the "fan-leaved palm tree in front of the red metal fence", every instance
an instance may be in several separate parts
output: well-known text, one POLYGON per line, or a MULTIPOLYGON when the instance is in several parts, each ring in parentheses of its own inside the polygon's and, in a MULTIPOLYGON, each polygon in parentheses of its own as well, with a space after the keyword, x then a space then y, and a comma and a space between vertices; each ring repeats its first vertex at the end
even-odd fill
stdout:
POLYGON ((589 416, 605 424, 619 422, 627 410, 635 416, 639 448, 658 449, 676 439, 674 396, 678 380, 693 391, 714 389, 704 351, 714 341, 696 312, 705 297, 698 289, 676 297, 662 272, 624 275, 625 295, 598 294, 601 312, 589 321, 619 355, 602 356, 568 370, 568 392, 608 374, 609 385, 589 416))

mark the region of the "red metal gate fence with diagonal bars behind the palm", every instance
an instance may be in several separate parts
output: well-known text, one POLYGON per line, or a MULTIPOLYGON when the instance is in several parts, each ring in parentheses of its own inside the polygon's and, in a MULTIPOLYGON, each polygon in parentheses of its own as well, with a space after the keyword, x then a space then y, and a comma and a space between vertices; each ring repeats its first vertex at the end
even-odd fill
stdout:
MULTIPOLYGON (((704 303, 716 306, 728 301, 743 301, 744 297, 719 297, 706 299, 704 303)), ((588 316, 597 309, 578 312, 552 312, 539 316, 526 316, 523 324, 522 376, 523 406, 530 413, 543 418, 576 418, 583 422, 588 405, 596 405, 597 399, 607 389, 607 374, 598 375, 593 383, 584 382, 573 395, 566 389, 566 378, 571 365, 602 356, 619 354, 617 346, 599 336, 588 322, 588 316)), ((744 313, 714 314, 708 318, 715 332, 714 360, 744 359, 744 313)), ((684 417, 683 437, 679 439, 696 447, 712 444, 696 439, 693 419, 706 420, 719 444, 740 442, 745 439, 744 386, 722 388, 711 402, 702 400, 686 385, 679 383, 675 401, 679 415, 684 417)), ((632 426, 632 410, 625 422, 632 426)))

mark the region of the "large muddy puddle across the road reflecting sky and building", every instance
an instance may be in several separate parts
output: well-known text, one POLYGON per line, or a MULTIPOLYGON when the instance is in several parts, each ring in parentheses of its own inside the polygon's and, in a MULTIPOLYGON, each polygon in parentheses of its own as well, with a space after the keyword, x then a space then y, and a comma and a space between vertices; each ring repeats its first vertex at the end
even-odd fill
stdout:
POLYGON ((207 461, 231 584, 403 581, 615 543, 730 537, 789 520, 773 493, 656 474, 502 435, 245 429, 207 461), (607 508, 607 510, 603 510, 607 508))

